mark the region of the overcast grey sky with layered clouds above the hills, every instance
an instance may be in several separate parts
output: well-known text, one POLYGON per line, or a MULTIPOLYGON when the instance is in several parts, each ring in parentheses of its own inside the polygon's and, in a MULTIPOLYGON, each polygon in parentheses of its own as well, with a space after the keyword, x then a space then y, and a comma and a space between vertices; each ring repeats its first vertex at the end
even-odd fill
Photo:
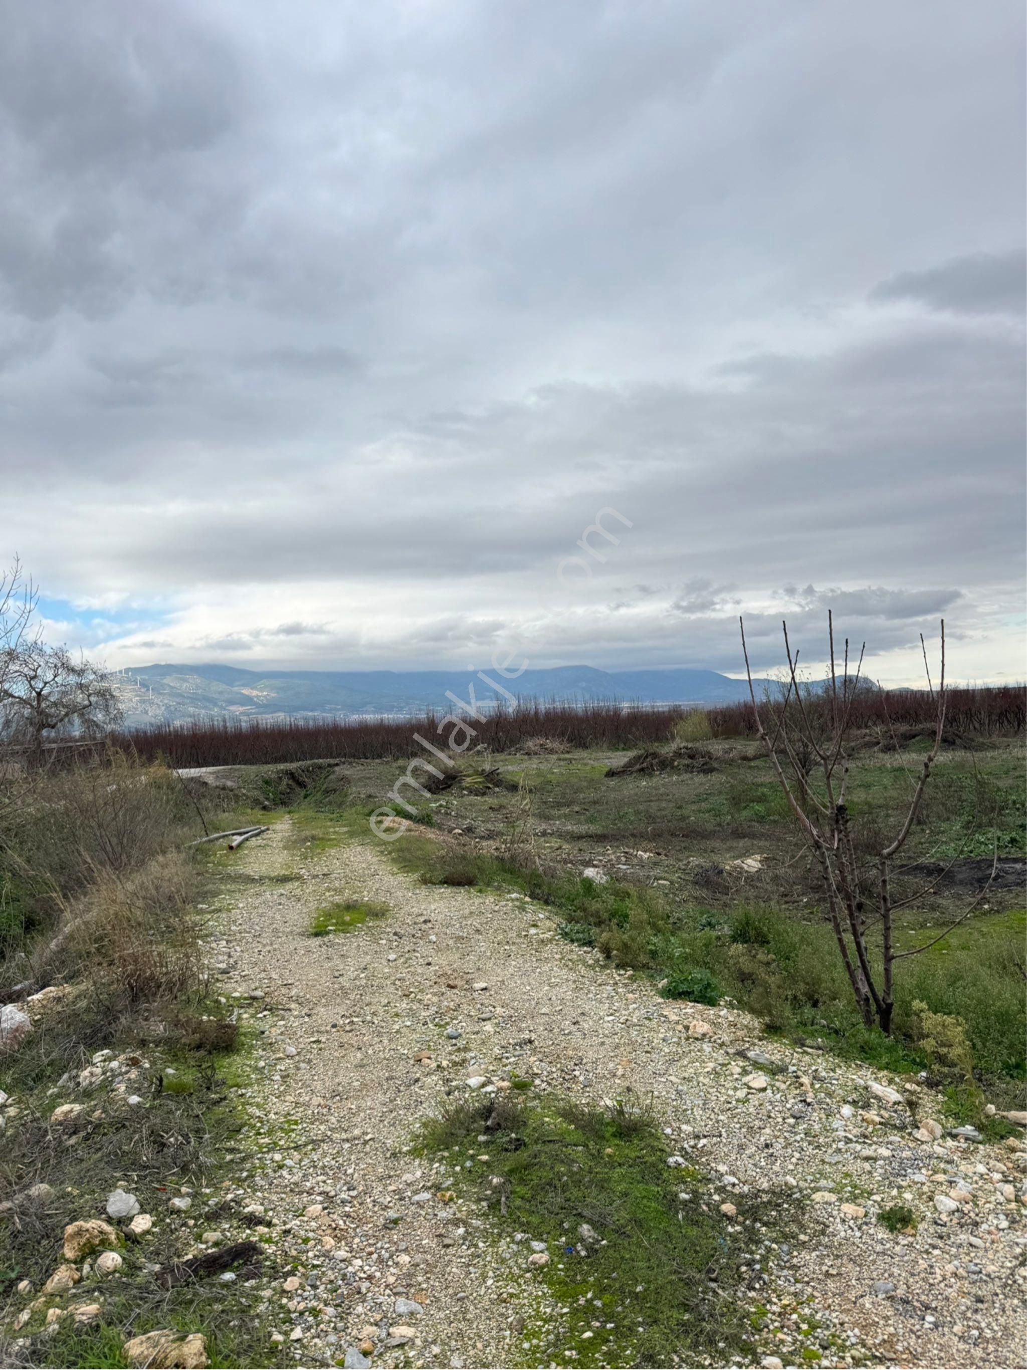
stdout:
POLYGON ((0 0, 4 559, 112 666, 1023 678, 1022 11, 0 0))

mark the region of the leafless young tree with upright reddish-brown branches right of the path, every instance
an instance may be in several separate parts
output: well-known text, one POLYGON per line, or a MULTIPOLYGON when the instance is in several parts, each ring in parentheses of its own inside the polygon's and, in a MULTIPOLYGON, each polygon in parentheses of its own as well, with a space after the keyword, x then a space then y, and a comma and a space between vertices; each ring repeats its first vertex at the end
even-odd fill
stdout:
MULTIPOLYGON (((753 689, 749 651, 745 644, 745 623, 741 618, 738 623, 756 727, 778 784, 785 792, 789 807, 820 869, 827 897, 827 918, 860 1015, 868 1028, 876 1022, 882 1032, 890 1033, 894 1011, 896 962, 917 956, 948 936, 953 927, 965 922, 991 882, 989 880, 989 884, 969 907, 923 947, 901 952, 894 949, 896 911, 926 893, 926 891, 919 891, 908 899, 896 900, 891 892, 891 878, 894 858, 905 847, 913 829, 942 743, 946 699, 945 621, 942 619, 941 623, 941 675, 937 689, 928 671, 928 686, 937 710, 934 741, 924 756, 919 777, 913 780, 909 804, 898 830, 890 840, 882 838, 876 843, 871 870, 867 869, 865 860, 859 858, 853 821, 846 803, 849 784, 846 744, 849 743, 853 701, 860 689, 865 688, 865 682, 860 678, 865 643, 860 648, 854 670, 850 670, 849 641, 845 640, 845 655, 839 674, 834 649, 834 622, 828 610, 830 671, 826 686, 812 692, 809 688, 804 689, 798 680, 798 652, 791 652, 787 623, 782 623, 789 663, 787 678, 781 697, 765 700, 761 708, 753 689), (764 714, 768 715, 770 727, 764 726, 764 714), (880 937, 879 955, 874 958, 871 958, 871 934, 875 940, 878 934, 880 937)), ((924 647, 926 663, 927 649, 924 647)), ((991 878, 994 878, 996 864, 997 856, 991 864, 991 878)))

